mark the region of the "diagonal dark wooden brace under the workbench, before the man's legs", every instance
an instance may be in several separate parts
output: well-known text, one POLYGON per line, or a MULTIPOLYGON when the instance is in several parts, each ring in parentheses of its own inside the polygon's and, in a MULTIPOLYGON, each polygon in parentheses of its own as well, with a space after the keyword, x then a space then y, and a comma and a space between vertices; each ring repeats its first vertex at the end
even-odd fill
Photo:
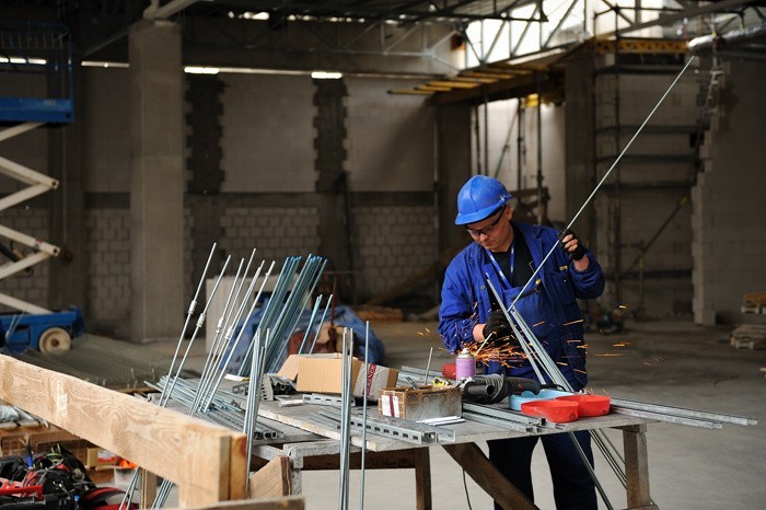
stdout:
POLYGON ((507 510, 537 508, 500 474, 476 443, 442 444, 442 448, 502 508, 507 510))

